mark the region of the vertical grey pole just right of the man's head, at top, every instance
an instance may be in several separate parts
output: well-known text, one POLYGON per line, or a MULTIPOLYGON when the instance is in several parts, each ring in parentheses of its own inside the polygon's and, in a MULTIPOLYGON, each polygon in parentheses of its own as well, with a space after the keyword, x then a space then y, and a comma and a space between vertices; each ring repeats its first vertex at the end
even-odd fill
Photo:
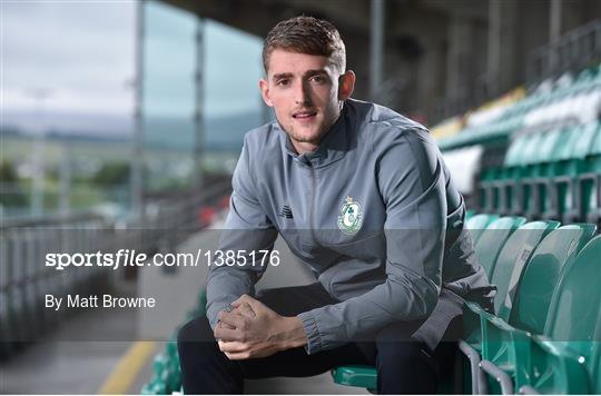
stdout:
POLYGON ((370 98, 376 99, 383 79, 385 0, 372 0, 370 41, 370 98))

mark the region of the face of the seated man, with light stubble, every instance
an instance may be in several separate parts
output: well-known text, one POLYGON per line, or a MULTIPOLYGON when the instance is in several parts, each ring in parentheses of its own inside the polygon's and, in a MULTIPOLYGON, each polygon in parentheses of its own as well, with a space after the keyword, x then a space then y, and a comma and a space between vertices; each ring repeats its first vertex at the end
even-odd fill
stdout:
POLYGON ((263 98, 299 154, 317 148, 338 118, 341 101, 352 92, 344 76, 339 81, 339 71, 326 57, 272 52, 267 79, 260 81, 263 98))

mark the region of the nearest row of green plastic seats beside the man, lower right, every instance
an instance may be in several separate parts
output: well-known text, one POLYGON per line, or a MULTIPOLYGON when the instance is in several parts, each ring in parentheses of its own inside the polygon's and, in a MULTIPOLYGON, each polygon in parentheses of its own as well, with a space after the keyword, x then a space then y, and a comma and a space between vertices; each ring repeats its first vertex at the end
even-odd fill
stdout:
POLYGON ((475 250, 497 294, 464 309, 474 394, 601 393, 601 236, 595 226, 476 215, 475 250))

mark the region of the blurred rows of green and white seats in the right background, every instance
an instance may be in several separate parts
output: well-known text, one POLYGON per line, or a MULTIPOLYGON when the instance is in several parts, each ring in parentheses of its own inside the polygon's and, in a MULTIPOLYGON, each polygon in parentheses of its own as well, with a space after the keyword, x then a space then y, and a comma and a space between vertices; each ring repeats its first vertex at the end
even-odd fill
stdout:
POLYGON ((522 133, 503 167, 482 171, 480 207, 486 212, 556 219, 601 219, 601 122, 522 133))

